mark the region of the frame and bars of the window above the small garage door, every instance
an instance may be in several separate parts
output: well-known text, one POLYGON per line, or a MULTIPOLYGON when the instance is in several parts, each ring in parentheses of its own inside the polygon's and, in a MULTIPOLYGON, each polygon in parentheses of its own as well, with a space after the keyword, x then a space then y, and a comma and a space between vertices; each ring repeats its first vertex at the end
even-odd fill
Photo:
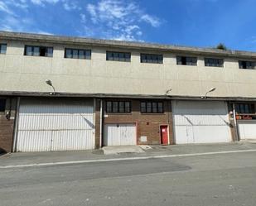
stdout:
POLYGON ((105 113, 132 113, 132 102, 129 100, 106 100, 105 101, 105 113), (109 110, 109 106, 108 103, 111 103, 111 108, 109 110), (117 107, 114 107, 114 103, 117 103, 117 107), (120 106, 120 104, 123 103, 123 107, 120 106), (126 104, 129 104, 128 107, 126 107, 126 104), (114 110, 114 108, 116 108, 117 110, 114 110), (121 109, 123 109, 123 111, 121 111, 121 109), (128 110, 127 110, 128 108, 128 110))

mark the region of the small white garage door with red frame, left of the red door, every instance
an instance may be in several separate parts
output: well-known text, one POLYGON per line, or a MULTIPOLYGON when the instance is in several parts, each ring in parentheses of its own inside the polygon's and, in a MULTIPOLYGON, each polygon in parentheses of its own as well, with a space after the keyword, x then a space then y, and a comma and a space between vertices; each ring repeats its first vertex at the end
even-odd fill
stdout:
POLYGON ((104 125, 104 146, 136 145, 135 123, 106 123, 104 125))

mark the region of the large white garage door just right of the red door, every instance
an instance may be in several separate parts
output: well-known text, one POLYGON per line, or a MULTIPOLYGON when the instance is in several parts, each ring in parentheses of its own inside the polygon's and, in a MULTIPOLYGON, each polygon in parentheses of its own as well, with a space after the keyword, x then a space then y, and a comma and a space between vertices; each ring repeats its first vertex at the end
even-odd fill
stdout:
POLYGON ((176 144, 229 142, 225 102, 172 101, 176 144))

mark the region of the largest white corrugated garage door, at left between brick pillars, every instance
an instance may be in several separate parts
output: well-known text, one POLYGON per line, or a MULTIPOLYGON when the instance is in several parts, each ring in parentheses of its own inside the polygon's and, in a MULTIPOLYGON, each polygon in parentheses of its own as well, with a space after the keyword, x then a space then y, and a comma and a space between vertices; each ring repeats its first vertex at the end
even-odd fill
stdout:
POLYGON ((92 101, 21 101, 16 151, 94 149, 92 101))

